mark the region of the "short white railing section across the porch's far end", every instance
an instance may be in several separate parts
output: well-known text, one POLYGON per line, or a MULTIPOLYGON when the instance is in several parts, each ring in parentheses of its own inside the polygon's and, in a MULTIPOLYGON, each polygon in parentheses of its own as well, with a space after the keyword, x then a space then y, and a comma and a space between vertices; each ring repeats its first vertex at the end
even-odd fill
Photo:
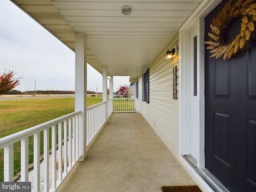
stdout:
POLYGON ((140 112, 140 104, 138 98, 118 98, 113 99, 114 112, 140 112))

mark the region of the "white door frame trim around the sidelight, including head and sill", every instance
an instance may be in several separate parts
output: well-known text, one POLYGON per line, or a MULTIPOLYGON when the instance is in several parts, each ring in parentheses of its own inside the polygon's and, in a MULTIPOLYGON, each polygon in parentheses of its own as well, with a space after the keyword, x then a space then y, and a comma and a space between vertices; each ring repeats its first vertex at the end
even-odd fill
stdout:
MULTIPOLYGON (((186 103, 186 94, 188 90, 188 80, 186 79, 186 63, 190 58, 188 57, 189 50, 186 46, 188 42, 188 31, 192 28, 193 25, 196 25, 197 30, 197 74, 198 74, 198 121, 199 121, 199 156, 197 159, 196 168, 201 169, 205 167, 205 153, 204 153, 204 122, 205 122, 205 98, 204 98, 204 89, 205 89, 205 79, 204 79, 204 18, 221 2, 222 0, 203 0, 198 8, 192 13, 188 20, 182 25, 179 30, 179 86, 180 86, 180 99, 179 99, 179 156, 180 160, 184 163, 184 166, 190 170, 193 174, 193 178, 196 178, 200 184, 209 188, 206 182, 202 181, 202 177, 195 171, 195 168, 192 167, 188 162, 186 162, 184 156, 190 154, 189 146, 189 117, 190 113, 188 111, 188 103, 186 103)), ((191 72, 190 72, 191 73, 191 72)))

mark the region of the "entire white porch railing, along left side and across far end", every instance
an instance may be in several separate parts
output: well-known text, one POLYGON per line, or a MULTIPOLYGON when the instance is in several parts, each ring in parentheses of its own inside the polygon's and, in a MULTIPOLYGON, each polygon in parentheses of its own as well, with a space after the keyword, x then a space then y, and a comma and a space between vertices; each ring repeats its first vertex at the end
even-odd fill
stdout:
MULTIPOLYGON (((112 112, 139 112, 138 99, 110 99, 87 108, 87 146, 106 123, 112 112), (108 106, 108 107, 107 107, 108 106), (113 110, 114 106, 114 110, 113 110), (107 109, 108 108, 108 109, 107 109)), ((29 137, 34 137, 34 191, 40 191, 40 175, 44 176, 44 191, 55 191, 80 159, 78 154, 78 123, 81 111, 73 112, 15 134, 0 138, 4 148, 4 181, 12 182, 14 170, 14 143, 21 142, 21 182, 28 180, 29 137), (49 137, 51 132, 51 138, 49 137), (40 173, 40 133, 43 134, 44 172, 40 173), (52 162, 49 165, 49 142, 52 144, 52 162), (58 151, 56 146, 58 146, 58 151), (57 165, 58 163, 58 165, 57 165), (51 174, 49 176, 49 168, 51 174), (50 177, 50 178, 49 178, 50 177), (51 179, 51 187, 49 180, 51 179)))

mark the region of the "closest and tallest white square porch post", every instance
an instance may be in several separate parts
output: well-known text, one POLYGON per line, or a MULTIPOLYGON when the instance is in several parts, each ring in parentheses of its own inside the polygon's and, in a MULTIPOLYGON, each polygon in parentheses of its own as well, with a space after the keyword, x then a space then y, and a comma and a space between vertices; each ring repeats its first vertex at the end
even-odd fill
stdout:
POLYGON ((76 33, 76 77, 75 77, 75 111, 82 111, 78 122, 78 145, 81 161, 86 158, 86 125, 87 125, 87 37, 76 33))

